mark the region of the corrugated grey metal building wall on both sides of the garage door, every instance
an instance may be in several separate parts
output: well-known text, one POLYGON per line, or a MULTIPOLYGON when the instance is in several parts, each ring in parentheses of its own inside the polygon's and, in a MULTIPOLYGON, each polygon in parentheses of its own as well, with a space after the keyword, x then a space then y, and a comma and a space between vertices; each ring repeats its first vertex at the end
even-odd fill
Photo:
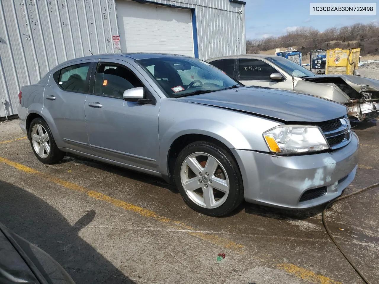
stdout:
MULTIPOLYGON (((244 5, 229 0, 145 0, 195 9, 200 59, 246 53, 244 5)), ((0 117, 17 114, 22 86, 66 60, 112 53, 114 0, 0 0, 0 117)))

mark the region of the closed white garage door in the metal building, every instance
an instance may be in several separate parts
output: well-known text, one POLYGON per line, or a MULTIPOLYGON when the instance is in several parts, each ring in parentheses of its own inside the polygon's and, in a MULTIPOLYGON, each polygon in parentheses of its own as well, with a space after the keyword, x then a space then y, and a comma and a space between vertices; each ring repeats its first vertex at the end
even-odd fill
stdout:
POLYGON ((191 10, 116 1, 121 51, 194 56, 191 10))

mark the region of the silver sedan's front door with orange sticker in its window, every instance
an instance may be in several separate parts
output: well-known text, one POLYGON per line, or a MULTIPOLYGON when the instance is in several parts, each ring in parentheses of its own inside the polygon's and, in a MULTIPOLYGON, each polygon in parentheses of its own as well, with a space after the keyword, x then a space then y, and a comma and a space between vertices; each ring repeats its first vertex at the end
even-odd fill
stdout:
POLYGON ((148 170, 157 169, 160 100, 141 74, 120 60, 99 62, 92 94, 85 102, 89 144, 94 155, 148 170), (138 75, 136 75, 138 74, 138 75), (144 87, 151 103, 125 101, 125 90, 144 87))

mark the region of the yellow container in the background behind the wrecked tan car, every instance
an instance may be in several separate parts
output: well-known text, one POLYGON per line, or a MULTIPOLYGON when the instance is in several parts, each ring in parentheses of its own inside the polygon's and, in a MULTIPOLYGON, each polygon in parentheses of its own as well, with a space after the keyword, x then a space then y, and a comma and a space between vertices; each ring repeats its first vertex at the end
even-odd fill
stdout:
POLYGON ((326 50, 325 74, 352 75, 358 69, 360 48, 333 48, 326 50))

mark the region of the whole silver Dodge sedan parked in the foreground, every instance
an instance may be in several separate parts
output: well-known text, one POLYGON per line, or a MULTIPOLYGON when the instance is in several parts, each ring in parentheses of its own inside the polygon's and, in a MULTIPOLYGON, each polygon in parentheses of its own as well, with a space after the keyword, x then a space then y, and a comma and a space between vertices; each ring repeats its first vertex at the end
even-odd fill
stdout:
POLYGON ((158 176, 211 216, 242 200, 317 206, 356 174, 359 141, 345 106, 245 87, 196 58, 77 58, 22 87, 19 99, 39 161, 71 153, 158 176))

